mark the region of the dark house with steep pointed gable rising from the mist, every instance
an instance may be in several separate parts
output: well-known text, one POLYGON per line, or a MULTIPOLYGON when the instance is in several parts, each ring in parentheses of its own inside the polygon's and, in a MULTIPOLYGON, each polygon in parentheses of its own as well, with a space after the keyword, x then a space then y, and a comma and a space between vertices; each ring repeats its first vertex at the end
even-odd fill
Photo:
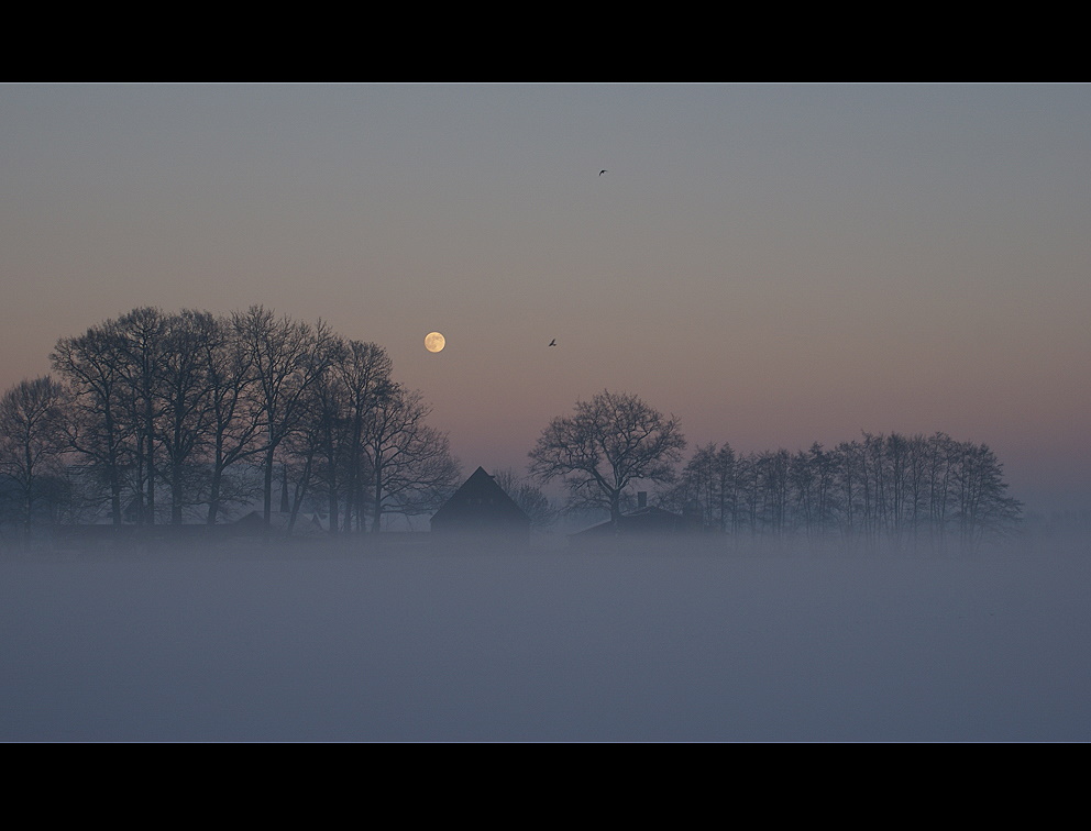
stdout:
POLYGON ((478 467, 432 514, 432 533, 447 536, 530 539, 530 518, 496 479, 478 467))

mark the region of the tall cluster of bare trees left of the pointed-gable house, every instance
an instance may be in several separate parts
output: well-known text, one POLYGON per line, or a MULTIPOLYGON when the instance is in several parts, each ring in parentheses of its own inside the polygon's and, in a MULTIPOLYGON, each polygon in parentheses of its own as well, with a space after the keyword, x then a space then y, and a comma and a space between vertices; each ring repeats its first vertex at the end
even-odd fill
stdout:
POLYGON ((261 306, 134 309, 49 356, 0 401, 9 521, 217 524, 260 499, 266 527, 320 503, 332 534, 433 510, 460 468, 374 343, 261 306), (274 492, 279 503, 274 505, 274 492))

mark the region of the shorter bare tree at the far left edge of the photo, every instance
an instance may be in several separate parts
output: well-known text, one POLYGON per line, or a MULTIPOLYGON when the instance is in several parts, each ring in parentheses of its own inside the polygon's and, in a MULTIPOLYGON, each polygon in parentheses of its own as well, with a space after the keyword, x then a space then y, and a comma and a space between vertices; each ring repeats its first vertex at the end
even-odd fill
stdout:
POLYGON ((19 518, 26 538, 41 484, 59 472, 59 458, 68 447, 67 405, 66 390, 48 375, 21 381, 0 398, 0 474, 19 489, 19 518))

